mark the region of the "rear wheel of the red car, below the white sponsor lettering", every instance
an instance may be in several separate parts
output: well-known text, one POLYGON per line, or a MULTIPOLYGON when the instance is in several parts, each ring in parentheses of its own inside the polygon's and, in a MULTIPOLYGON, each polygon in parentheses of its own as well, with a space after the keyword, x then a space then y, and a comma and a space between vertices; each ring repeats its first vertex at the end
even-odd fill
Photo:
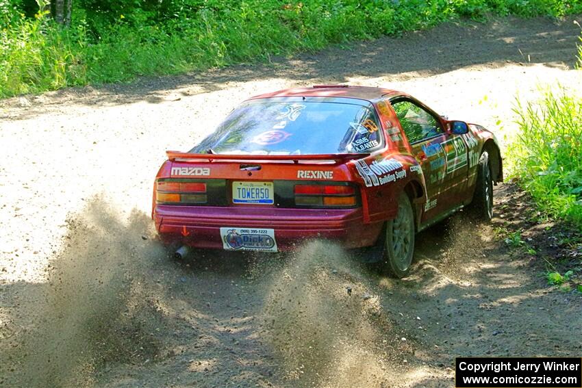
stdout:
POLYGON ((386 222, 383 269, 398 279, 410 271, 414 254, 414 211, 408 196, 403 192, 398 196, 398 214, 386 222))

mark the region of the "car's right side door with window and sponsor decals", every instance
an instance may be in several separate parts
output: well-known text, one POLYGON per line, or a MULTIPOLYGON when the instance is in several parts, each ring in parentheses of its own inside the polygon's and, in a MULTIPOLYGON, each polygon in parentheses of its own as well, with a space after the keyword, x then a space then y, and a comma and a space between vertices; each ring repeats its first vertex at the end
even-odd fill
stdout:
POLYGON ((425 175, 428 201, 421 222, 426 222, 457 205, 455 192, 466 182, 466 146, 422 103, 401 96, 391 99, 390 104, 425 175))

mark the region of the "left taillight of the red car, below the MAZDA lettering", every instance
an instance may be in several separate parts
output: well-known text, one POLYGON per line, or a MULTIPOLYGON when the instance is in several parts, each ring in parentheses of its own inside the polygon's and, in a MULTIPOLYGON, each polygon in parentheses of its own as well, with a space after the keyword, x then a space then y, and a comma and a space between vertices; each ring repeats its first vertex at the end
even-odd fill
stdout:
POLYGON ((157 203, 207 203, 206 183, 187 179, 165 179, 157 181, 155 187, 157 203))

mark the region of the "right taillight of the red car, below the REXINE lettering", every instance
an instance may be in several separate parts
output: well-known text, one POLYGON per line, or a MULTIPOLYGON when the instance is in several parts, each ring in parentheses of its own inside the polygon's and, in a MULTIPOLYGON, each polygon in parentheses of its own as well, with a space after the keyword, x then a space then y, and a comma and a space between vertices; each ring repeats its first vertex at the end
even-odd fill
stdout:
POLYGON ((354 207, 355 187, 349 185, 295 185, 295 205, 309 207, 354 207))

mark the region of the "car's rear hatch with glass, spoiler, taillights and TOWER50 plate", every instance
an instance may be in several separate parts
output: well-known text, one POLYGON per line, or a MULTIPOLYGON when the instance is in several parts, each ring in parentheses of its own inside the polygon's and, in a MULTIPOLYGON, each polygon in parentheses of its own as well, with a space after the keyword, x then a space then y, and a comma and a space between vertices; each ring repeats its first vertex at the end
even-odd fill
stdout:
POLYGON ((351 208, 350 159, 383 148, 372 103, 339 97, 252 99, 188 153, 168 151, 158 204, 351 208))

